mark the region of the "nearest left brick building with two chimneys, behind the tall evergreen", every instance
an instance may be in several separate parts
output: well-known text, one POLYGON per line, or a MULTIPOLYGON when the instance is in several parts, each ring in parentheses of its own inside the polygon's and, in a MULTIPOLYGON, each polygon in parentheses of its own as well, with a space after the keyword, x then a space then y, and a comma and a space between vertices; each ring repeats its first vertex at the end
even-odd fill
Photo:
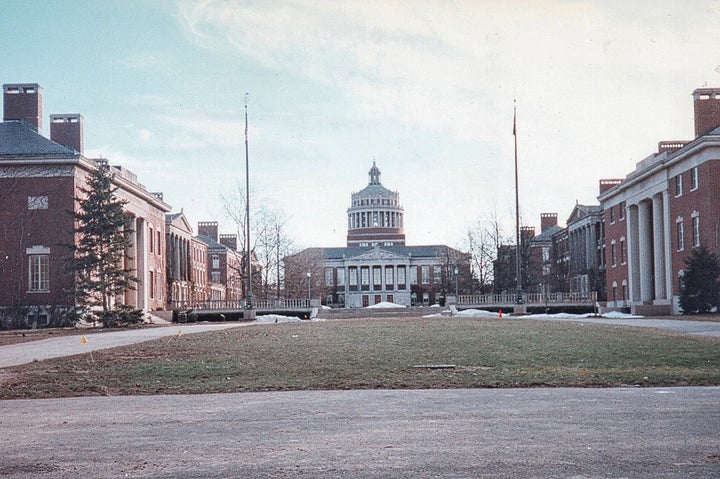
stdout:
MULTIPOLYGON (((74 299, 67 272, 80 189, 99 162, 83 152, 83 118, 52 115, 50 138, 42 135, 42 87, 3 85, 0 123, 0 315, 47 324, 74 299)), ((152 311, 164 309, 165 214, 169 205, 135 175, 111 166, 116 195, 127 202, 132 247, 125 266, 138 278, 136 289, 118 302, 152 311)))

